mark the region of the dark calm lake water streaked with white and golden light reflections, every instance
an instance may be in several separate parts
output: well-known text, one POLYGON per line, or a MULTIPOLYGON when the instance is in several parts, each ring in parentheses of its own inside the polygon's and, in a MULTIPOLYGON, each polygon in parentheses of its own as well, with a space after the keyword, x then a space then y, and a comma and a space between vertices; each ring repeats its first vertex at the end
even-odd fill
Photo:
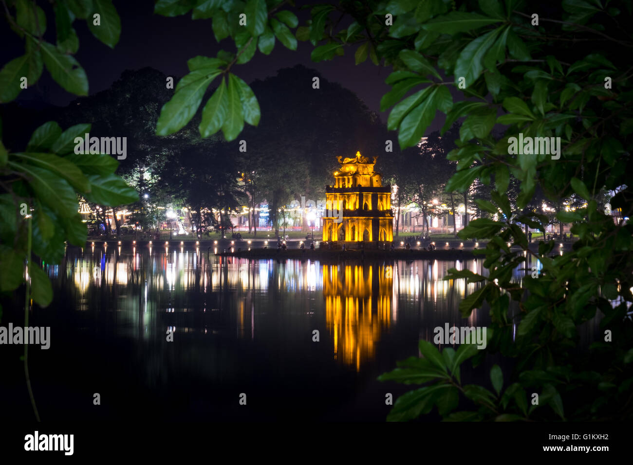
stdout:
MULTIPOLYGON (((194 245, 69 247, 62 264, 47 266, 53 304, 30 319, 51 326, 51 348, 29 352, 40 414, 384 421, 385 394, 415 386, 377 376, 418 355, 418 340, 432 340, 436 326, 489 323, 486 308, 461 318, 459 302, 480 283, 442 280, 449 268, 483 271, 480 259, 249 261, 194 245)), ((5 311, 8 321, 23 325, 23 313, 5 311)), ((5 413, 30 419, 22 347, 4 347, 12 376, 0 384, 16 399, 5 413)))

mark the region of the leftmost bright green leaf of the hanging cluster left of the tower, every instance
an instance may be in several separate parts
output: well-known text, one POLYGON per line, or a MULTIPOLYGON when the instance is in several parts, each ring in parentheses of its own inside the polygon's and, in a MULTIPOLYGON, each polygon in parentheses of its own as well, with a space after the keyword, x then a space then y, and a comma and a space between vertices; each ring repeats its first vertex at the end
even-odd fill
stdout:
POLYGON ((176 86, 172 99, 163 105, 156 123, 157 135, 168 135, 180 130, 196 114, 209 84, 220 75, 219 70, 191 71, 176 86))

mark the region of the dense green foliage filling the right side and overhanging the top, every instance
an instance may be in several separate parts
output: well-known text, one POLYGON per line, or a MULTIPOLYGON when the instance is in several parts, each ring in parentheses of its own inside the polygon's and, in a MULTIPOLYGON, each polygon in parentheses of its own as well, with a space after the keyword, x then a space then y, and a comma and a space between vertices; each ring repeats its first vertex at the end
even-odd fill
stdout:
POLYGON ((216 39, 231 37, 236 51, 189 60, 191 72, 163 108, 157 132, 175 132, 191 120, 216 77, 220 85, 204 106, 201 134, 221 128, 225 139, 233 140, 244 121, 256 125, 256 98, 229 70, 257 50, 269 54, 275 40, 293 50, 296 40, 310 41, 313 61, 334 59, 353 46, 356 64, 370 58, 392 67, 385 81, 392 90, 380 106, 391 108, 387 127, 398 131, 401 149, 420 142, 437 111, 446 115, 443 131, 465 118, 458 148, 448 156, 456 172, 446 190, 464 192, 475 180, 491 188, 492 201, 477 203, 493 218, 474 220, 460 232, 462 239, 489 240, 480 251, 489 273, 451 270, 446 279, 480 283, 461 302, 461 313, 466 317, 487 302, 492 337, 481 352, 512 359, 514 369, 504 374, 492 368, 494 392, 461 386, 460 364, 475 356, 472 348, 439 352, 422 341, 422 358, 403 361, 380 378, 426 384, 401 396, 389 419, 416 418, 434 406, 453 420, 630 418, 633 227, 603 213, 598 194, 610 192, 611 208, 630 215, 633 41, 626 25, 632 3, 563 0, 562 8, 552 9, 545 2, 516 0, 345 1, 311 4, 310 20, 301 27, 286 6, 294 3, 159 0, 154 11, 160 15, 192 11, 194 20, 211 19, 216 39), (242 14, 246 25, 240 25, 242 14), (505 130, 499 136, 495 127, 505 130), (560 137, 560 158, 510 154, 508 139, 519 133, 560 137), (510 182, 520 189, 515 202, 506 196, 510 182), (537 190, 553 202, 584 201, 582 208, 557 214, 578 238, 572 251, 556 255, 554 241, 530 250, 523 227, 544 230, 548 223, 546 215, 528 208, 537 190), (527 254, 540 261, 542 271, 517 283, 512 270, 527 254), (511 302, 518 304, 517 314, 510 313, 511 302), (601 334, 590 347, 577 347, 579 327, 596 316, 611 339, 601 334), (528 408, 528 392, 541 395, 539 405, 551 409, 528 408), (461 398, 471 407, 454 412, 461 398))

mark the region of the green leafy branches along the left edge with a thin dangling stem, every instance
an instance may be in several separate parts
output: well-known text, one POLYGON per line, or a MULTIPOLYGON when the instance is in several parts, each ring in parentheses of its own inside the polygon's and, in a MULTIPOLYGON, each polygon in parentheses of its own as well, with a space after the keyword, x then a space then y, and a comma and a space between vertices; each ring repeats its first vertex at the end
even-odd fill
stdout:
MULTIPOLYGON (((56 2, 55 44, 44 40, 47 18, 34 1, 2 3, 6 21, 25 40, 25 54, 0 70, 0 102, 15 100, 23 84, 34 85, 44 67, 63 89, 87 96, 85 71, 73 57, 79 41, 72 24, 76 19, 86 20, 97 39, 114 47, 121 22, 111 1, 56 2)), ((75 137, 84 137, 90 131, 89 124, 62 130, 55 121, 48 121, 35 129, 23 151, 4 146, 1 128, 0 124, 0 292, 13 292, 25 284, 28 326, 30 301, 46 307, 53 300, 46 265, 61 262, 66 242, 85 245, 87 228, 78 213, 79 197, 103 206, 118 206, 136 201, 138 195, 115 174, 116 159, 108 154, 74 152, 75 137)), ((28 375, 27 344, 22 359, 28 394, 39 421, 28 375)))

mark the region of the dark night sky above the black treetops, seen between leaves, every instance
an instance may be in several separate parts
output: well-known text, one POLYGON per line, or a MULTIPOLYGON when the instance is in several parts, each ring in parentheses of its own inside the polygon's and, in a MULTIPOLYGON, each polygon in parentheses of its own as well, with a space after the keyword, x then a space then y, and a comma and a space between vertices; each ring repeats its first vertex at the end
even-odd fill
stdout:
MULTIPOLYGON (((54 15, 50 6, 42 4, 47 15, 47 32, 44 36, 49 42, 55 40, 54 15)), ((211 29, 211 20, 192 20, 191 13, 175 18, 154 15, 154 2, 150 0, 114 0, 113 4, 121 17, 121 37, 114 49, 102 44, 87 28, 84 20, 75 20, 73 26, 79 37, 79 50, 75 55, 84 68, 89 82, 89 93, 94 94, 110 87, 120 77, 123 70, 138 70, 151 66, 166 75, 182 77, 187 73, 187 59, 196 55, 215 56, 219 49, 235 51, 232 39, 216 43, 211 29)), ((296 11, 296 9, 292 9, 296 11)), ((299 25, 309 18, 309 10, 299 11, 299 25)), ((0 51, 1 65, 23 54, 23 39, 9 29, 6 20, 0 33, 3 44, 0 51)), ((235 65, 235 74, 252 82, 256 78, 274 76, 279 68, 294 66, 298 63, 318 70, 327 80, 338 82, 352 90, 367 106, 387 121, 388 112, 380 113, 380 97, 391 87, 384 84, 389 68, 375 66, 369 59, 361 65, 354 65, 355 47, 346 47, 345 56, 332 61, 313 63, 310 42, 299 42, 297 51, 286 49, 279 40, 275 42, 272 54, 265 56, 259 51, 245 65, 235 65)), ((313 92, 311 82, 306 92, 313 92)), ((44 70, 41 79, 33 88, 23 90, 18 101, 44 101, 65 106, 76 96, 68 94, 53 82, 44 70)), ((283 99, 283 96, 280 96, 283 99)))

